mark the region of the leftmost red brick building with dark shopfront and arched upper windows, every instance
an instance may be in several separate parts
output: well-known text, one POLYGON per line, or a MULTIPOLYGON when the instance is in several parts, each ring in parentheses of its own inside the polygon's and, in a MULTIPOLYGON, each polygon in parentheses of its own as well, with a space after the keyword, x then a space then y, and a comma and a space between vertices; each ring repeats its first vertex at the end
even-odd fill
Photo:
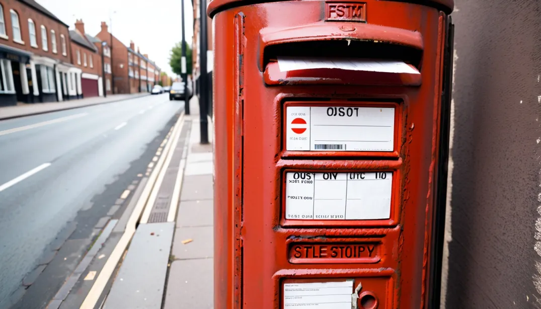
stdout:
POLYGON ((0 0, 0 105, 76 96, 68 25, 34 0, 0 0))

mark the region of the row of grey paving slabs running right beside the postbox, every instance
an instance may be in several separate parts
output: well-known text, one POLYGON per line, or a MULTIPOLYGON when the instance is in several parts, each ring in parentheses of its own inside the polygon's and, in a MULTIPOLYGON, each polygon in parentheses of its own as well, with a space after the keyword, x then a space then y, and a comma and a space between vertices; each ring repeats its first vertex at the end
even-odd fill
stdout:
POLYGON ((199 104, 190 104, 190 110, 193 111, 192 134, 171 249, 164 309, 214 307, 213 129, 209 128, 211 143, 199 144, 199 104))

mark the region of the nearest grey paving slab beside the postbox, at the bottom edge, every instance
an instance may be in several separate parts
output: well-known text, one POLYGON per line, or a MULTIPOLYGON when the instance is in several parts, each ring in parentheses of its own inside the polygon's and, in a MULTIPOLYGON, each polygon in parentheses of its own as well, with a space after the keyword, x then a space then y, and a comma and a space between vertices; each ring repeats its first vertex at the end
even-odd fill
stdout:
POLYGON ((164 309, 214 308, 214 260, 176 260, 169 268, 164 309))

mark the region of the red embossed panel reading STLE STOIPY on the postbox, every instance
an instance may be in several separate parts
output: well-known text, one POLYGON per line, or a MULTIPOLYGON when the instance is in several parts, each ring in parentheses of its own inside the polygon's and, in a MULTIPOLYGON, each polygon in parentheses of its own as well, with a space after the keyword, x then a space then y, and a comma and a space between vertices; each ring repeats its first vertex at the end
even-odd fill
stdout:
POLYGON ((293 264, 319 263, 377 263, 380 260, 381 244, 292 244, 289 262, 293 264))

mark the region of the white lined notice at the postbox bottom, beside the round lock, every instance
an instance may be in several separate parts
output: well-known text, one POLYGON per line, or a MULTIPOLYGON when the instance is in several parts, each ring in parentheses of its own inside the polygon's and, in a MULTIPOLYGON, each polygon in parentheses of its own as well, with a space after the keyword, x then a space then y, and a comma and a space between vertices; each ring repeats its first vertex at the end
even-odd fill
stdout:
POLYGON ((303 309, 351 309, 353 280, 340 282, 286 283, 283 307, 303 309))

